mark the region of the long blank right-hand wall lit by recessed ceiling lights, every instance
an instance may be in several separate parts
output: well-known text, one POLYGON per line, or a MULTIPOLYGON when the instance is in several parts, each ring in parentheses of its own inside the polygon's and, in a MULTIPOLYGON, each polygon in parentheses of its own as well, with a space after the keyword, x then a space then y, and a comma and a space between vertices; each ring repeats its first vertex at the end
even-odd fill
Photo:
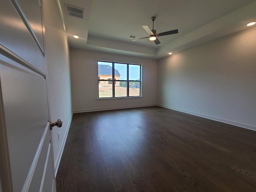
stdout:
POLYGON ((158 61, 160 106, 256 130, 256 30, 158 61))

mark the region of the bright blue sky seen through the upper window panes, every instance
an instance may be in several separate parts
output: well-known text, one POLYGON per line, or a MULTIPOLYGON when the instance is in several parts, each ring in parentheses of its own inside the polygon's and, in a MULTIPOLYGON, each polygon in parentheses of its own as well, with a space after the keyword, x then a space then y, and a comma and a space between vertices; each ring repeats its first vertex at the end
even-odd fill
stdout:
MULTIPOLYGON (((111 62, 98 62, 101 65, 112 66, 111 62)), ((121 74, 120 80, 127 80, 127 65, 115 63, 115 69, 121 74)), ((129 65, 129 80, 138 80, 140 78, 140 65, 129 65)))

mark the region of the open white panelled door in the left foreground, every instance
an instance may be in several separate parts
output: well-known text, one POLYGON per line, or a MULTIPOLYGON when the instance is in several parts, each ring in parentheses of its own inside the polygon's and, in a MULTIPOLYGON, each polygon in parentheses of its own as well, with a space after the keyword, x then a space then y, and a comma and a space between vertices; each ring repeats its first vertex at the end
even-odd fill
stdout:
POLYGON ((1 0, 0 18, 2 191, 56 191, 42 5, 1 0))

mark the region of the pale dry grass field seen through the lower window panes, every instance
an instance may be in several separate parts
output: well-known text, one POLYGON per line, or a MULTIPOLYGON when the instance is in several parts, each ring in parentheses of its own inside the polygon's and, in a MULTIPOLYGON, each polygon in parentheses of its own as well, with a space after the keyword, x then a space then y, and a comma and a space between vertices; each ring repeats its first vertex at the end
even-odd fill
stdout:
MULTIPOLYGON (((127 88, 115 86, 115 96, 116 97, 126 97, 127 88)), ((139 88, 129 88, 129 96, 140 96, 139 88)), ((99 86, 99 98, 112 97, 112 86, 99 86)))

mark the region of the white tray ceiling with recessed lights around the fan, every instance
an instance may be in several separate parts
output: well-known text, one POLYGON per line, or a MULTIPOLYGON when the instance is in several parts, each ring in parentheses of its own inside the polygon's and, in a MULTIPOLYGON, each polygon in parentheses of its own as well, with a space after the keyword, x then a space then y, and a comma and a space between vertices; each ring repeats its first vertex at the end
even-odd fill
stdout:
POLYGON ((254 30, 255 0, 57 0, 68 42, 73 48, 162 58, 231 34, 254 30), (83 8, 84 19, 68 16, 64 4, 83 8), (132 41, 130 35, 148 36, 142 25, 157 33, 178 34, 132 41), (76 34, 80 38, 75 39, 76 34))

